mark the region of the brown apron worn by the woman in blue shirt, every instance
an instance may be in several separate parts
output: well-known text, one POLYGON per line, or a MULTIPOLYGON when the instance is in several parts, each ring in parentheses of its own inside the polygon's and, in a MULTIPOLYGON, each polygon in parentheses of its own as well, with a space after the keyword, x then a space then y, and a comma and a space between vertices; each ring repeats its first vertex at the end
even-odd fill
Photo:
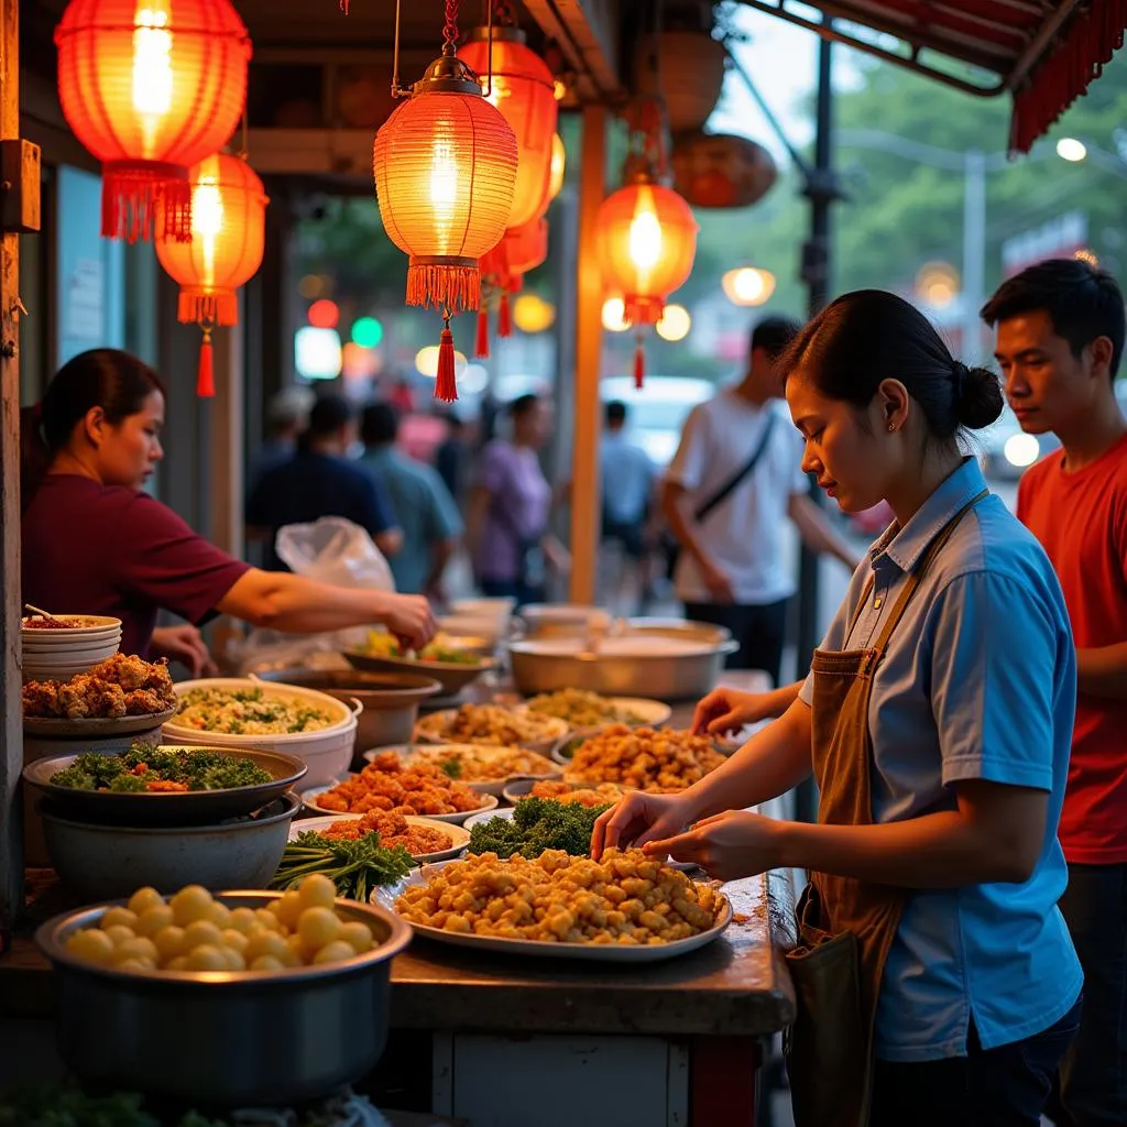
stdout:
MULTIPOLYGON (((818 823, 871 825, 869 698, 888 639, 932 560, 983 490, 928 547, 870 649, 814 654, 811 716, 818 823)), ((845 646, 872 592, 870 578, 845 646)), ((811 872, 798 904, 798 946, 787 956, 797 1015, 784 1045, 796 1127, 866 1127, 872 1099, 873 1026, 904 891, 811 872)))

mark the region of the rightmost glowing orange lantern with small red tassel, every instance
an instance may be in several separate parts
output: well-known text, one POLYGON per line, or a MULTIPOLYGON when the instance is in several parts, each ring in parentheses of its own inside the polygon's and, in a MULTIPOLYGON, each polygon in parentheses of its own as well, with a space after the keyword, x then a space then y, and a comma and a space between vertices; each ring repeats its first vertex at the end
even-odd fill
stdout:
MULTIPOLYGON (((628 325, 657 325, 665 299, 684 285, 696 254, 696 220, 672 188, 649 172, 607 196, 598 211, 598 257, 603 278, 622 293, 628 325)), ((635 354, 635 381, 641 387, 645 354, 641 334, 635 354)))

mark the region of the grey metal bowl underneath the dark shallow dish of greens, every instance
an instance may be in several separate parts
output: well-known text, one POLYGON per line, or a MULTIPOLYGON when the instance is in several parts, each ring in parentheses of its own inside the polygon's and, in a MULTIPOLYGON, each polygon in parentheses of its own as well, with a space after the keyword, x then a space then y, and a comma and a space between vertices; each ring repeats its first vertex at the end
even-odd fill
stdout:
POLYGON ((151 885, 265 888, 301 809, 291 791, 254 815, 211 826, 105 826, 76 822, 39 804, 47 857, 59 879, 87 902, 131 896, 151 885))

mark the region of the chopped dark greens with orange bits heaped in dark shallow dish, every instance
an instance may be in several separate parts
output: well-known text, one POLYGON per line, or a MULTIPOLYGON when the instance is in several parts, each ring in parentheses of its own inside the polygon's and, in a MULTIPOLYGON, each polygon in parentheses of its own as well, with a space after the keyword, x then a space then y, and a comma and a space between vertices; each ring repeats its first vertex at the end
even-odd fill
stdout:
POLYGON ((134 744, 122 755, 79 755, 51 781, 76 790, 230 790, 269 782, 274 777, 254 760, 225 752, 177 751, 134 744), (172 786, 153 786, 170 783, 172 786))

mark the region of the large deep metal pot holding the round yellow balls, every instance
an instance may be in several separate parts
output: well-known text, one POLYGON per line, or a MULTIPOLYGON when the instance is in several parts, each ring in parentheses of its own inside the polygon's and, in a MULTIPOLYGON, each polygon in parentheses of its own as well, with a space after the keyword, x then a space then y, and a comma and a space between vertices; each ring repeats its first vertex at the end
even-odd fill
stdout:
MULTIPOLYGON (((216 899, 260 908, 277 895, 216 899)), ((343 919, 372 929, 365 955, 255 974, 130 973, 68 955, 68 937, 110 906, 56 916, 35 935, 55 966, 59 1051, 81 1080, 196 1106, 291 1104, 353 1083, 383 1053, 391 959, 411 938, 387 908, 337 900, 343 919)))

